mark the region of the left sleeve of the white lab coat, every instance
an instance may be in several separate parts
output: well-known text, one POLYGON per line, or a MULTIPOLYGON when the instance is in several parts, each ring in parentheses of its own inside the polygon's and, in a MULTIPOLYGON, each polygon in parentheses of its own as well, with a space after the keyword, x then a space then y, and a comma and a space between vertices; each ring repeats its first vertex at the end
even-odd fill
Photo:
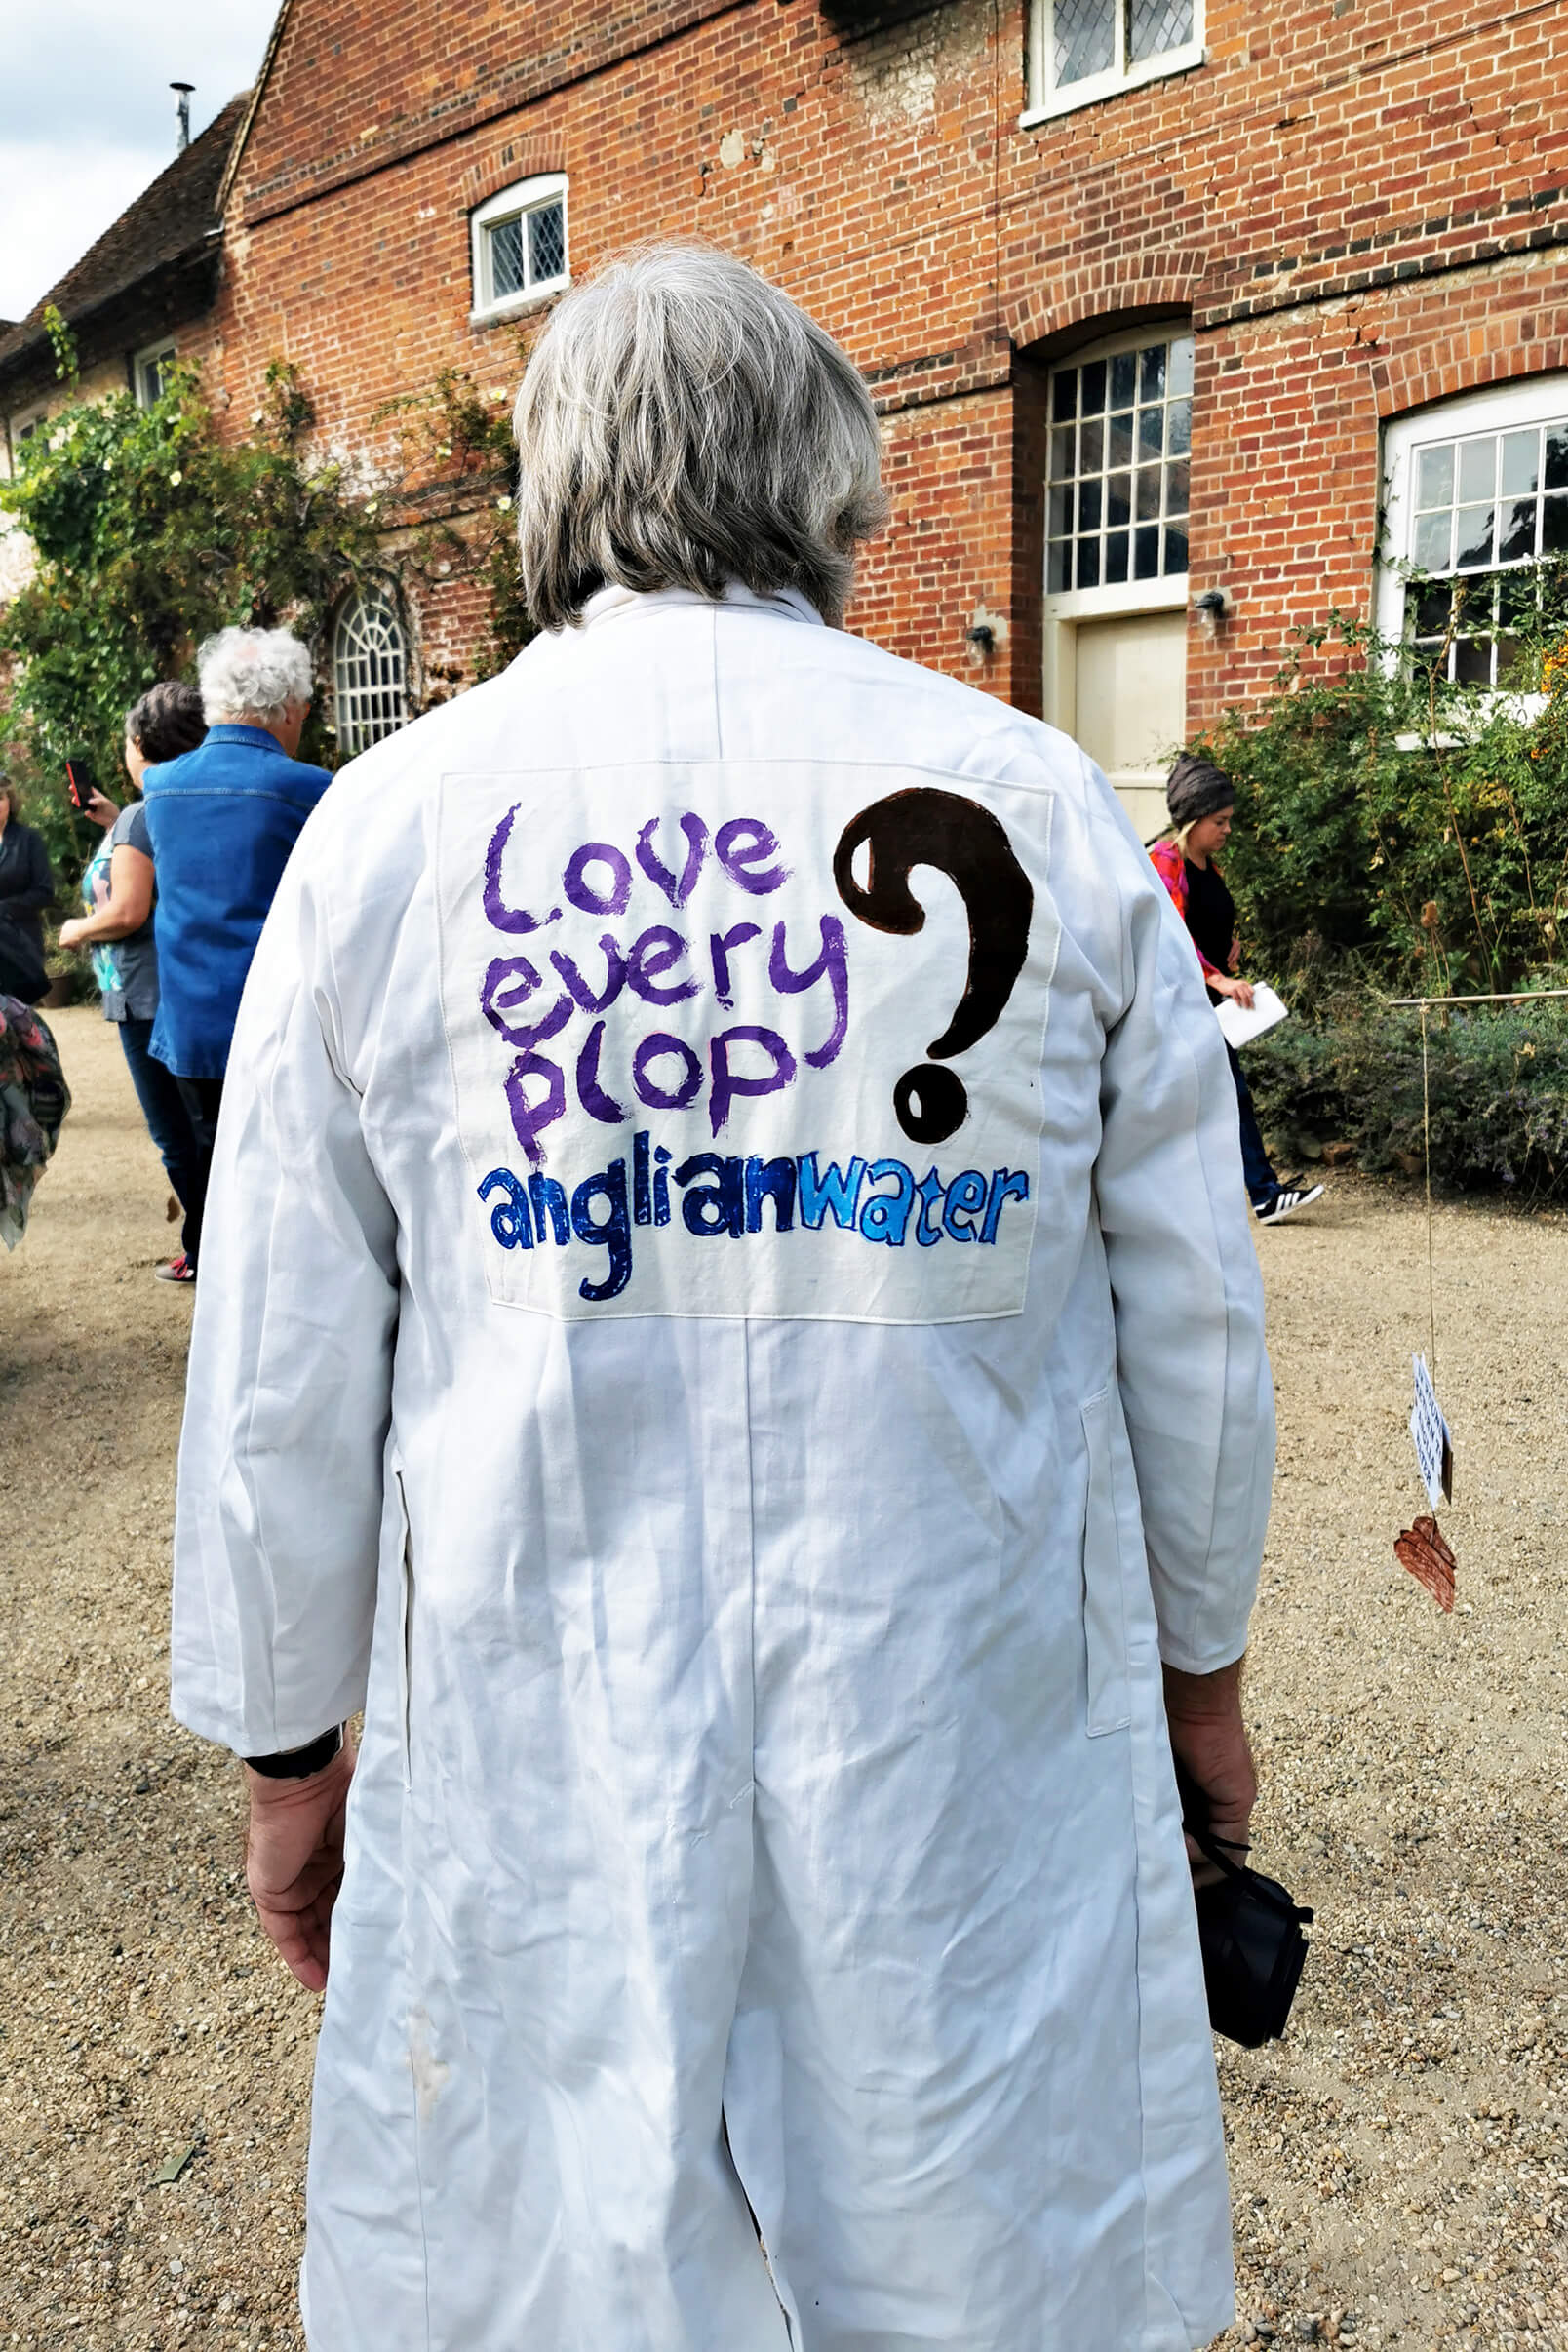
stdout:
POLYGON ((240 1755, 364 1703, 376 1597, 397 1223, 313 866, 289 863, 240 1007, 179 1456, 174 1715, 240 1755))

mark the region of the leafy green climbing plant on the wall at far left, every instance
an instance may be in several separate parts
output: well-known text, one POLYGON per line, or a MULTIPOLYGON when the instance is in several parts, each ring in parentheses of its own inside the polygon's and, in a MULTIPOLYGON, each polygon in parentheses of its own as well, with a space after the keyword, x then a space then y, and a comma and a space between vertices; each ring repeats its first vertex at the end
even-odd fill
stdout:
MULTIPOLYGON (((0 612, 14 663, 0 741, 42 786, 33 811, 56 851, 80 847, 66 753, 94 757, 113 790, 127 708, 188 673, 209 630, 287 621, 317 640, 343 588, 383 567, 374 501, 303 456, 308 426, 296 372, 273 362, 247 440, 221 440, 195 372, 174 369, 153 407, 129 393, 73 402, 24 445, 0 513, 38 562, 0 612)), ((317 729, 306 757, 320 748, 317 729)))

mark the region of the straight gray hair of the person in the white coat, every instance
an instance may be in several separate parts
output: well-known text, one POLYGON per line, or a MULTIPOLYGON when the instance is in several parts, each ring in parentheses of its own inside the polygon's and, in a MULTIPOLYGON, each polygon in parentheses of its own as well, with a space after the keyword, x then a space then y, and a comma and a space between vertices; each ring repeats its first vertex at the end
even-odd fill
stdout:
POLYGON ((729 254, 649 245, 557 306, 517 395, 538 628, 595 588, 799 588, 837 621, 882 524, 882 437, 830 334, 729 254))

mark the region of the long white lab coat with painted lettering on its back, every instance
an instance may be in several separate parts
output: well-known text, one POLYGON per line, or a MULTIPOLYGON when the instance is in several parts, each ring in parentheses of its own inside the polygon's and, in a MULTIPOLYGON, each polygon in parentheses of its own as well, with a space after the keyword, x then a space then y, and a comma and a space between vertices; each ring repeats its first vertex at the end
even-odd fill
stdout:
POLYGON ((1159 1658, 1244 1649, 1269 1472, 1218 1025, 1070 741, 604 590, 357 760, 228 1065, 174 1592, 195 1731, 367 1712, 313 2352, 1222 2328, 1159 1658))

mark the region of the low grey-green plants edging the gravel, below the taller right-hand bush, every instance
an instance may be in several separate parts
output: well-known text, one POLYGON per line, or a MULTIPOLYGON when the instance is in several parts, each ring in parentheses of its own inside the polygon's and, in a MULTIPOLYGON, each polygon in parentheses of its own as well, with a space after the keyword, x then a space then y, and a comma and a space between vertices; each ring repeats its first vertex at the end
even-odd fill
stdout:
MULTIPOLYGON (((1286 1160, 1354 1145, 1363 1169, 1422 1171, 1420 1014, 1366 993, 1246 1049, 1258 1115, 1286 1160)), ((1427 1014, 1432 1181, 1568 1200, 1568 1007, 1427 1014)))

